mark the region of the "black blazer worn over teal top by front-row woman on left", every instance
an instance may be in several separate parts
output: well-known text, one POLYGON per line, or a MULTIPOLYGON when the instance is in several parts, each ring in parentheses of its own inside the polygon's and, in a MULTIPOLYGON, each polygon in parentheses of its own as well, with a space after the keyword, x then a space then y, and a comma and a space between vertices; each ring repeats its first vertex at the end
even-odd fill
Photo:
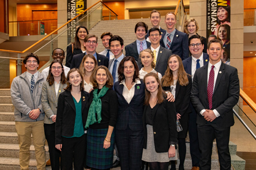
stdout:
MULTIPOLYGON (((89 93, 81 92, 82 101, 82 125, 85 129, 86 119, 88 115, 89 93)), ((61 136, 70 137, 74 134, 75 123, 75 103, 70 91, 59 94, 58 109, 55 124, 55 144, 62 144, 61 136)))

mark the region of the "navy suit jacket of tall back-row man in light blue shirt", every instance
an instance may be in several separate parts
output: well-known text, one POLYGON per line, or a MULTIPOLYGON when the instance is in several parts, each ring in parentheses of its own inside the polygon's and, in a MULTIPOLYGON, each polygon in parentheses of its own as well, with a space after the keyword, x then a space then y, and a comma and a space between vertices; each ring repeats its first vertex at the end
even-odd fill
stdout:
MULTIPOLYGON (((162 36, 165 36, 162 35, 162 36)), ((163 39, 160 41, 160 45, 164 48, 164 42, 163 39)), ((188 39, 188 34, 180 32, 176 29, 176 32, 174 34, 174 39, 171 42, 171 47, 167 48, 172 51, 172 54, 176 54, 179 57, 181 57, 181 60, 185 60, 186 58, 189 57, 189 39, 188 39)))

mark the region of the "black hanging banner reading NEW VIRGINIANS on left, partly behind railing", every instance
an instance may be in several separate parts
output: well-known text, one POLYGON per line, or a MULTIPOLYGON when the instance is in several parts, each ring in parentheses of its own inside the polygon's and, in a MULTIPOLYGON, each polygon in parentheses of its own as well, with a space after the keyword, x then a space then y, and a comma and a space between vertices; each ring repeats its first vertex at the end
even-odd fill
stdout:
MULTIPOLYGON (((82 11, 87 9, 87 0, 67 0, 67 21, 70 21, 78 14, 82 13, 82 11)), ((72 28, 68 29, 67 31, 67 43, 71 42, 71 37, 73 36, 73 41, 75 37, 76 26, 74 25, 76 20, 73 20, 71 23, 67 25, 67 27, 72 28)))

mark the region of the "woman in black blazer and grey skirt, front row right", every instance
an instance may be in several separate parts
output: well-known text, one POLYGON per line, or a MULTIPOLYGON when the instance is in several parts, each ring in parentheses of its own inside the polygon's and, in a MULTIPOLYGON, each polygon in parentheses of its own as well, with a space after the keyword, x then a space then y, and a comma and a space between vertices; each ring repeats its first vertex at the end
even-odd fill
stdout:
POLYGON ((144 76, 144 83, 146 98, 143 113, 142 160, 149 162, 150 170, 168 170, 169 160, 176 156, 178 133, 175 104, 166 99, 167 95, 162 90, 156 73, 150 72, 144 76))

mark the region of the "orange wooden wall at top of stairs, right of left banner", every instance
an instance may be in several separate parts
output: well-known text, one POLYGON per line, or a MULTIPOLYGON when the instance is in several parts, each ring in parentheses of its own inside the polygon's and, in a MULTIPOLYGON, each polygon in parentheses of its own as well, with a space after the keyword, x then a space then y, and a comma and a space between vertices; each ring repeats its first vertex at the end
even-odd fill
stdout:
MULTIPOLYGON (((114 11, 118 15, 118 19, 124 19, 124 1, 116 1, 116 2, 103 2, 110 8, 112 11, 114 11)), ((109 16, 109 10, 104 7, 102 10, 103 16, 109 16)), ((114 18, 114 17, 113 17, 114 18)), ((107 20, 109 18, 106 18, 107 20)))

